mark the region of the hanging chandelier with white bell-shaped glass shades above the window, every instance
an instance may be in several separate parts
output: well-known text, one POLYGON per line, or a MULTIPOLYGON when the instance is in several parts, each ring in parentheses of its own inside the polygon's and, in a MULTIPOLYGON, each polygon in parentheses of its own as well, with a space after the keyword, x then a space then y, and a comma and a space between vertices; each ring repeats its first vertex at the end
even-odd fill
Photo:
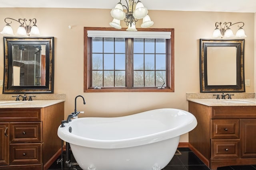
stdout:
POLYGON ((150 17, 148 16, 147 8, 144 7, 140 0, 138 0, 137 2, 134 2, 134 0, 125 1, 127 6, 122 5, 120 0, 116 7, 111 10, 110 14, 114 19, 109 24, 112 27, 116 29, 121 29, 122 27, 120 25, 120 20, 124 20, 126 25, 128 26, 126 31, 137 31, 135 24, 139 19, 142 18, 142 28, 147 28, 154 24, 154 22, 151 21, 150 17), (123 7, 126 8, 126 13, 123 11, 123 7))

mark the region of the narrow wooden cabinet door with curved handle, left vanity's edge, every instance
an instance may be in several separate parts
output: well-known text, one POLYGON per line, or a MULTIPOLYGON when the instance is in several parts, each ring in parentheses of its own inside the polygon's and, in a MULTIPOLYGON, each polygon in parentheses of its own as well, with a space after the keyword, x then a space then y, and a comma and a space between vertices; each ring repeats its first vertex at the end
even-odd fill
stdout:
POLYGON ((0 123, 0 165, 9 164, 9 123, 0 123))

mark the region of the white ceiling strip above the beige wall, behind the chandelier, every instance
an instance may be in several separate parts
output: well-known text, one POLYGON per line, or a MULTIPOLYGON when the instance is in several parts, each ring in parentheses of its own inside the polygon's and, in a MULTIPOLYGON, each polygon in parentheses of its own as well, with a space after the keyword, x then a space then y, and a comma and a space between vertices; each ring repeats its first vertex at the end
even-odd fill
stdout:
MULTIPOLYGON (((119 0, 0 0, 0 8, 112 9, 118 2, 119 0)), ((125 0, 121 2, 123 5, 126 4, 125 0)), ((148 10, 256 12, 256 0, 141 0, 141 2, 148 10)))

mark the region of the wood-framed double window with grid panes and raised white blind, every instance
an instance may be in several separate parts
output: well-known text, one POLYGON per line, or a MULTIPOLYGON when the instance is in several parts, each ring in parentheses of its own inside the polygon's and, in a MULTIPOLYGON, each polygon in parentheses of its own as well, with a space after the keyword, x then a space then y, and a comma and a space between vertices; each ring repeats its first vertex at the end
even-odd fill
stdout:
POLYGON ((84 92, 174 92, 174 29, 124 30, 84 28, 84 92))

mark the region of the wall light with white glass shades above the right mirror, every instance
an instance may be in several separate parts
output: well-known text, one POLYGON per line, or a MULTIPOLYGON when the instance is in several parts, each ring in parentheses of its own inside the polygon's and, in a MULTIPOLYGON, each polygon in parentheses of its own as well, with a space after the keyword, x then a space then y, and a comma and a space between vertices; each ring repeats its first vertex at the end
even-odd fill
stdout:
POLYGON ((218 38, 225 38, 225 39, 232 39, 232 38, 245 38, 246 35, 244 33, 244 29, 242 29, 242 27, 244 26, 243 22, 236 22, 236 23, 231 23, 231 22, 224 22, 222 24, 222 22, 215 23, 215 29, 214 32, 212 34, 212 38, 213 39, 218 39, 218 38), (236 32, 236 35, 233 34, 232 30, 230 29, 230 26, 238 24, 238 31, 236 32), (239 26, 242 25, 242 26, 239 26), (223 25, 223 27, 222 27, 223 25))

